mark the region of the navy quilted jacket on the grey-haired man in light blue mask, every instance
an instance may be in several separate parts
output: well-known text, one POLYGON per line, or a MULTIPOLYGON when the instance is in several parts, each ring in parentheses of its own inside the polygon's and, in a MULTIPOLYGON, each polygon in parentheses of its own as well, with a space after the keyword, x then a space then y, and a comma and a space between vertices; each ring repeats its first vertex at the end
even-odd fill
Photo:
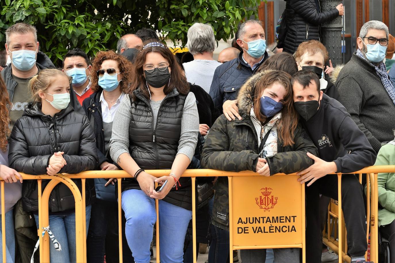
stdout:
MULTIPOLYGON (((210 87, 210 96, 213 99, 214 106, 222 113, 222 104, 227 100, 234 100, 241 86, 247 78, 252 76, 259 68, 258 65, 254 71, 243 61, 243 52, 239 57, 223 63, 215 69, 213 82, 210 87)), ((263 54, 263 63, 269 56, 265 51, 263 54)))

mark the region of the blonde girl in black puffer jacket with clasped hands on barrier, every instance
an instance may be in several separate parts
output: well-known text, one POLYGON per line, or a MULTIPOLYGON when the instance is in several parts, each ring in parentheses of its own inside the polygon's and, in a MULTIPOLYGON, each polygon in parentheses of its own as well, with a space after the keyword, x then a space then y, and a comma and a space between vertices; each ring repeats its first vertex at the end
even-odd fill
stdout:
MULTIPOLYGON (((27 105, 12 129, 9 167, 31 175, 80 173, 96 168, 95 135, 87 116, 75 112, 70 104, 70 83, 66 73, 58 69, 41 70, 31 78, 28 87, 34 102, 27 105)), ((72 180, 81 192, 81 179, 72 180)), ((42 180, 42 190, 49 181, 42 180)), ((93 179, 86 180, 85 196, 88 232, 90 203, 96 198, 93 179)), ((38 228, 36 180, 23 180, 22 203, 24 211, 34 214, 38 228)), ((49 226, 43 227, 48 227, 49 235, 55 237, 49 246, 51 262, 76 262, 75 200, 63 183, 51 191, 49 226)))

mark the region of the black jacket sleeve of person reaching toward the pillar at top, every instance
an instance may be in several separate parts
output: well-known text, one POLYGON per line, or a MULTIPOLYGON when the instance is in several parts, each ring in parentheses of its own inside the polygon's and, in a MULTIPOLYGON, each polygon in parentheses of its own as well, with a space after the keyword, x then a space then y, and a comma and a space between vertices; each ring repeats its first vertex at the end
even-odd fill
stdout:
POLYGON ((339 10, 336 8, 330 9, 325 12, 318 12, 314 3, 309 0, 291 0, 290 6, 307 22, 315 25, 331 21, 339 15, 339 10))

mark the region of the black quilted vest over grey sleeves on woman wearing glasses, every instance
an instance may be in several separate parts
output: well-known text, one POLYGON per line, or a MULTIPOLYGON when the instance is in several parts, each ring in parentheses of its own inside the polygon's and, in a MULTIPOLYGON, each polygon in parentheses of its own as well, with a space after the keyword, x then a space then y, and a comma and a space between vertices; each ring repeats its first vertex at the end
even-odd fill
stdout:
MULTIPOLYGON (((129 153, 144 170, 171 169, 181 137, 181 119, 187 95, 174 89, 166 95, 158 112, 156 127, 153 125, 149 101, 139 90, 133 91, 137 99, 130 96, 129 153)), ((112 145, 110 147, 113 147, 112 145)), ((192 210, 191 179, 180 178, 181 187, 172 188, 164 201, 192 210)), ((122 191, 140 189, 133 178, 122 181, 122 191)))

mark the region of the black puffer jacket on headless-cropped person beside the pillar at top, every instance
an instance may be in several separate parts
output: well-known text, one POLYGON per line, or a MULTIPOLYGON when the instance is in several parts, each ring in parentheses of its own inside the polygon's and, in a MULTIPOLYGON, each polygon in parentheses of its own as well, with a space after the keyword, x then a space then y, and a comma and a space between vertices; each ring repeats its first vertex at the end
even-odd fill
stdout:
POLYGON ((339 10, 336 8, 321 13, 316 0, 287 0, 286 2, 287 31, 284 51, 291 54, 303 41, 320 40, 320 25, 339 15, 339 10))

